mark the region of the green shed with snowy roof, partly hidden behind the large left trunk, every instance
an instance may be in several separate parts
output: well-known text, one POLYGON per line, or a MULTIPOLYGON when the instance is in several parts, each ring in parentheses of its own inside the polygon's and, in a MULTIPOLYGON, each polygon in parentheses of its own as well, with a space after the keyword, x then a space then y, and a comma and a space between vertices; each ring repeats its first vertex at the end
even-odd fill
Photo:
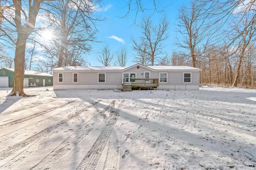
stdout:
MULTIPOLYGON (((36 84, 38 87, 52 86, 51 74, 25 70, 24 87, 36 84)), ((14 69, 0 69, 0 87, 13 87, 14 69)))

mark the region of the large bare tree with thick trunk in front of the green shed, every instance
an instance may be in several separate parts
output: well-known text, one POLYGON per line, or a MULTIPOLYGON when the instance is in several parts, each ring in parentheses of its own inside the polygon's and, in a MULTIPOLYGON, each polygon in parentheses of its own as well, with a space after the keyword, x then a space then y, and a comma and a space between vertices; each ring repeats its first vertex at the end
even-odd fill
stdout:
MULTIPOLYGON (((31 33, 35 31, 36 19, 38 16, 39 9, 44 10, 46 13, 55 13, 56 11, 51 11, 53 7, 59 3, 60 1, 53 0, 35 0, 35 1, 21 1, 21 0, 4 0, 5 6, 4 10, 0 10, 0 17, 2 18, 2 25, 0 27, 0 38, 4 39, 7 43, 15 46, 15 59, 14 59, 14 85, 11 95, 19 94, 20 96, 27 96, 23 91, 23 78, 24 78, 24 70, 25 70, 25 52, 26 52, 26 42, 31 33), (2 12, 5 11, 5 12, 2 12), (6 12, 7 11, 7 12, 6 12), (14 21, 14 22, 13 22, 14 21), (4 37, 4 38, 2 38, 4 37)), ((65 2, 65 1, 63 1, 65 2)), ((59 7, 70 8, 73 6, 73 11, 82 11, 84 14, 91 14, 91 11, 95 11, 95 4, 93 0, 89 1, 72 1, 73 4, 61 4, 59 7), (92 10, 93 8, 93 10, 92 10)), ((55 7, 57 8, 57 7, 55 7)), ((63 13, 62 13, 63 14, 63 13)), ((77 14, 78 15, 78 14, 77 14)), ((63 15, 61 22, 67 24, 65 20, 69 20, 67 15, 63 15), (65 19, 66 17, 66 19, 65 19)), ((73 15, 74 16, 74 15, 73 15)), ((85 15, 84 15, 85 16, 85 15)), ((83 18, 79 20, 76 18, 73 20, 75 23, 81 23, 83 21, 91 20, 91 18, 83 18)), ((68 25, 68 24, 67 24, 68 25)), ((82 28, 82 27, 81 27, 82 28)), ((38 30, 42 30, 43 28, 39 28, 38 30)), ((89 27, 83 29, 90 29, 89 27)), ((75 31, 73 27, 63 28, 65 31, 71 31, 73 34, 75 31), (73 32, 74 31, 74 32, 73 32)), ((64 32, 62 35, 66 35, 67 32, 64 32)), ((70 35, 70 34, 69 34, 70 35)), ((82 35, 82 34, 81 34, 82 35)), ((65 37, 66 38, 66 37, 65 37)), ((61 39, 61 38, 60 38, 61 39)), ((84 40, 84 39, 83 39, 84 40)), ((79 44, 79 43, 76 43, 79 44)), ((66 46, 65 42, 62 46, 66 46)), ((81 48, 87 48, 80 46, 81 48)), ((65 49, 64 49, 65 50, 65 49)), ((63 50, 60 50, 62 53, 63 50)))

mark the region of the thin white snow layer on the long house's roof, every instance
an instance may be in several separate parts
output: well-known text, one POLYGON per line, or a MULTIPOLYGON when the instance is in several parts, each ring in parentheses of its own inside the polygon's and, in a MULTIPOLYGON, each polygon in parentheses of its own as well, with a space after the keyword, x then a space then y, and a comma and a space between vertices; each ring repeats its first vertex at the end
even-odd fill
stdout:
MULTIPOLYGON (((135 65, 141 65, 141 64, 135 64, 135 65)), ((135 66, 132 65, 132 66, 135 66)), ((125 67, 121 67, 121 66, 63 66, 63 67, 59 67, 57 69, 53 69, 54 70, 59 70, 59 71, 65 71, 65 70, 108 70, 108 71, 121 71, 124 69, 127 69, 129 67, 132 66, 125 66, 125 67)), ((194 67, 190 67, 190 66, 145 66, 148 67, 149 69, 153 69, 153 70, 201 70, 201 69, 197 69, 194 67)))

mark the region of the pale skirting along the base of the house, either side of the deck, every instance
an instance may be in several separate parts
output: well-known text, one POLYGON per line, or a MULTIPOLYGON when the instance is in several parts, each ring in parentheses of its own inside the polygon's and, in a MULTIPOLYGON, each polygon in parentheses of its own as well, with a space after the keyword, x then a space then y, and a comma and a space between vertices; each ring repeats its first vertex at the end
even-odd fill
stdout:
MULTIPOLYGON (((122 89, 122 85, 53 85, 53 89, 122 89)), ((161 85, 157 89, 199 90, 198 85, 161 85)))

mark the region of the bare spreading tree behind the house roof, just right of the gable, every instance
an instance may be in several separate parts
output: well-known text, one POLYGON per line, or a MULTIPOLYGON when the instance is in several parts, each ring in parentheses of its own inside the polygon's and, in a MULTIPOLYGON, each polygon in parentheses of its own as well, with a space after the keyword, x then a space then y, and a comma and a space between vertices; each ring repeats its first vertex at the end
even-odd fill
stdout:
POLYGON ((146 60, 149 60, 150 64, 154 65, 155 60, 162 54, 162 41, 169 37, 167 32, 169 22, 166 18, 163 18, 158 25, 153 25, 150 18, 147 17, 140 24, 140 29, 142 36, 139 38, 139 41, 132 40, 133 49, 139 54, 138 56, 148 57, 146 60))

